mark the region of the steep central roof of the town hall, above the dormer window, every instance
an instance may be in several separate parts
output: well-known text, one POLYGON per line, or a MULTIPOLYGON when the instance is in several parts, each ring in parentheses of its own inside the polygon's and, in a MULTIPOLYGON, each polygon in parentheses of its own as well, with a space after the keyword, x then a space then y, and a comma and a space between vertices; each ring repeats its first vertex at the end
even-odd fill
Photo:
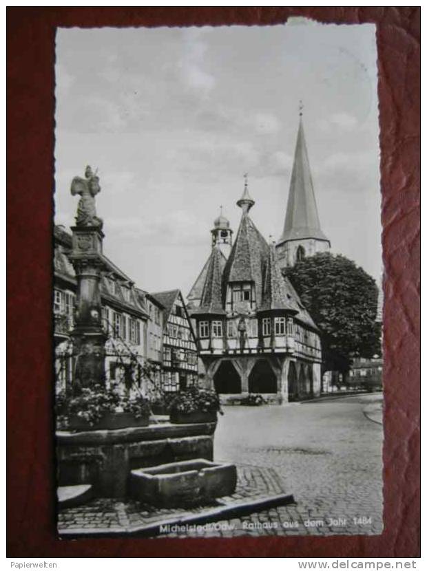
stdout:
MULTIPOLYGON (((256 287, 256 303, 262 303, 262 262, 269 255, 269 245, 243 213, 233 247, 223 272, 223 282, 252 281, 256 287)), ((225 288, 224 288, 225 289, 225 288)))

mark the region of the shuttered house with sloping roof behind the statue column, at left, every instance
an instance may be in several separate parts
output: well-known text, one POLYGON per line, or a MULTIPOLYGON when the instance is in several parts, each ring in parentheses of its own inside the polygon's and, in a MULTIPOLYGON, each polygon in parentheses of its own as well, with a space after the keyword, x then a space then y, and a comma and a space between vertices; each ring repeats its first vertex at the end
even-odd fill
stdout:
MULTIPOLYGON (((54 343, 56 390, 72 385, 75 357, 70 332, 74 327, 76 277, 68 259, 71 236, 54 228, 54 343)), ((105 342, 105 382, 131 387, 143 383, 141 367, 146 355, 148 314, 133 281, 103 255, 101 323, 105 342)), ((145 390, 145 386, 141 386, 145 390)))

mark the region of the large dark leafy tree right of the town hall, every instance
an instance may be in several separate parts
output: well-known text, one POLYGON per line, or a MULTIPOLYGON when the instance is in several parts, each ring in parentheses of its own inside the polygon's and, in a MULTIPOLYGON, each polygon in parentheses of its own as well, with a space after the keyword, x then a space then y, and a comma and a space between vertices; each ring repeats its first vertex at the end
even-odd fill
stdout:
POLYGON ((306 257, 284 274, 320 329, 324 371, 346 375, 352 356, 381 352, 377 314, 378 288, 362 268, 329 252, 306 257))

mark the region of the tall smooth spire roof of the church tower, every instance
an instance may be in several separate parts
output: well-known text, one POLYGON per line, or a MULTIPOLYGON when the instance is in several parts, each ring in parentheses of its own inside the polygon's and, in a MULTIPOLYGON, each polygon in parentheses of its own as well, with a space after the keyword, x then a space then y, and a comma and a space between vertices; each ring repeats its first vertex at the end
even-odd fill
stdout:
POLYGON ((320 229, 313 180, 311 179, 309 155, 306 149, 302 120, 300 120, 286 217, 279 244, 287 240, 303 238, 329 241, 320 229))

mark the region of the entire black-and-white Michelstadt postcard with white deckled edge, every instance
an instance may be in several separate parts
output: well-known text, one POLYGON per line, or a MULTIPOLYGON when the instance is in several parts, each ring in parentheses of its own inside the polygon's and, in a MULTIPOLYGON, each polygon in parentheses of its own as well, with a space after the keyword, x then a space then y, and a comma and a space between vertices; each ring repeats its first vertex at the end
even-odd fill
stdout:
POLYGON ((381 535, 375 32, 56 30, 61 539, 381 535))

